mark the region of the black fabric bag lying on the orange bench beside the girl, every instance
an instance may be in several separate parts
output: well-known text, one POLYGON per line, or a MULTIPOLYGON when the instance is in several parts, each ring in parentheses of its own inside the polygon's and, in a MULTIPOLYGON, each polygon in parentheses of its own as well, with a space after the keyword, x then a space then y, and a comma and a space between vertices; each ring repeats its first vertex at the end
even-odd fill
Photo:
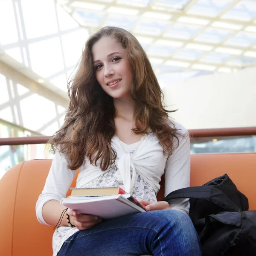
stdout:
POLYGON ((227 174, 203 186, 178 189, 163 201, 190 198, 189 216, 203 256, 256 256, 256 211, 227 174))

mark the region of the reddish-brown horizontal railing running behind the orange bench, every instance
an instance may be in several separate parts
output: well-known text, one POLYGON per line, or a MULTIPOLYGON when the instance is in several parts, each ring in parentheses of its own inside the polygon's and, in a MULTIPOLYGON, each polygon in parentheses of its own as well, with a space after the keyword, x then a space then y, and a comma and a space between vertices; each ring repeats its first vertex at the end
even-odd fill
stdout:
MULTIPOLYGON (((256 127, 194 129, 194 130, 189 130, 189 134, 193 138, 220 137, 220 136, 250 136, 250 135, 256 135, 256 127)), ((47 143, 49 138, 50 136, 0 138, 0 146, 1 145, 45 144, 47 143)))

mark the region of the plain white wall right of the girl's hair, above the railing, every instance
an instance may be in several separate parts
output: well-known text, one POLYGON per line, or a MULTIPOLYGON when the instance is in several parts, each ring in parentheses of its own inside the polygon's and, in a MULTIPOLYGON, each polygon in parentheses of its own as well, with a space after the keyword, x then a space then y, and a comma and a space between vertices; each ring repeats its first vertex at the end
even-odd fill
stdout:
POLYGON ((188 129, 256 126, 256 68, 198 76, 163 89, 177 122, 188 129))

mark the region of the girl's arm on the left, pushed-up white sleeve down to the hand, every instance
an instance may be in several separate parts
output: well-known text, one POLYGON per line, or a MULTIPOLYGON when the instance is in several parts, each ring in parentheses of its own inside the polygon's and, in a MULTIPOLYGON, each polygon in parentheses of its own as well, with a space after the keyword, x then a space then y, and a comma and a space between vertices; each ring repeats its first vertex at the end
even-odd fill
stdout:
MULTIPOLYGON (((56 152, 52 160, 44 190, 36 203, 36 215, 42 224, 55 226, 66 207, 60 204, 61 198, 66 197, 67 191, 76 175, 76 171, 67 169, 67 160, 56 152)), ((67 209, 59 226, 68 226, 66 213, 70 216, 70 223, 79 230, 89 229, 100 223, 101 218, 94 215, 79 215, 76 211, 67 209)))

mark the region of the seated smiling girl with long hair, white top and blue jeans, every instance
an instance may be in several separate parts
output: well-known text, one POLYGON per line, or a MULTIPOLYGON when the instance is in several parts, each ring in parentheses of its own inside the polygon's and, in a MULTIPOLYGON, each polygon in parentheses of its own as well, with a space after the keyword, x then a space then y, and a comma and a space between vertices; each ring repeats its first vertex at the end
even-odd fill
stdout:
POLYGON ((85 45, 69 82, 64 124, 49 143, 55 152, 36 213, 55 225, 76 187, 121 186, 146 212, 102 221, 67 209, 53 235, 56 256, 199 256, 189 202, 157 202, 161 176, 165 194, 189 186, 189 134, 168 117, 162 92, 137 39, 125 29, 104 27, 85 45))

